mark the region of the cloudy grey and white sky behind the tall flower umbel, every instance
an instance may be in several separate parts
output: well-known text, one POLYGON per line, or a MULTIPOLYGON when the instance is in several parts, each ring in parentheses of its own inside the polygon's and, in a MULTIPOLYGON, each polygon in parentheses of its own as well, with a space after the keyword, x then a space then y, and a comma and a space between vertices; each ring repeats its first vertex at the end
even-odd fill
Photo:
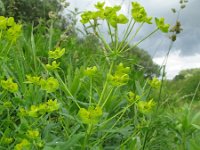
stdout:
MULTIPOLYGON (((94 10, 94 4, 97 1, 104 0, 68 0, 73 10, 75 7, 79 11, 94 10)), ((141 3, 149 16, 165 17, 166 22, 174 24, 176 15, 171 8, 179 8, 179 0, 135 0, 141 3)), ((105 0, 107 5, 121 5, 121 12, 128 13, 130 0, 105 0)), ((183 31, 179 34, 177 41, 174 43, 171 54, 167 63, 167 77, 173 78, 182 69, 200 68, 200 0, 189 0, 186 8, 181 11, 180 21, 183 31)), ((145 26, 136 40, 142 38, 152 31, 155 26, 145 26)), ((123 29, 121 29, 123 31, 123 29)), ((140 45, 141 48, 148 51, 153 60, 162 64, 164 56, 169 47, 169 40, 166 35, 157 33, 150 39, 140 45)))

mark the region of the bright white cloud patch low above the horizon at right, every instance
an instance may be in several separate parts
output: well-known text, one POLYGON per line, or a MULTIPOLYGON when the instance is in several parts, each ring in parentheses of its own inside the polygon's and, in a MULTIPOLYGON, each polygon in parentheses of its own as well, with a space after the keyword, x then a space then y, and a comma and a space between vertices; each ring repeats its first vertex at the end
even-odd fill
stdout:
MULTIPOLYGON (((166 66, 168 79, 172 79, 183 69, 200 68, 200 54, 197 53, 193 56, 181 56, 180 53, 180 50, 176 50, 168 57, 166 66)), ((153 61, 162 65, 164 59, 165 57, 156 57, 153 61)))

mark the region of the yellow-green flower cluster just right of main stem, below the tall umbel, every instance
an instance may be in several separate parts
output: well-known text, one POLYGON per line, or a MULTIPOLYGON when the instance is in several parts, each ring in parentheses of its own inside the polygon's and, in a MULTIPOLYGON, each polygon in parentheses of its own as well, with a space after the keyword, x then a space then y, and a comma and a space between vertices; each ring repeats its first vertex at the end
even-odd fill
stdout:
POLYGON ((108 74, 108 81, 113 86, 124 85, 129 81, 129 75, 128 75, 129 72, 130 72, 130 67, 124 67, 124 65, 120 63, 117 66, 114 75, 108 74))

